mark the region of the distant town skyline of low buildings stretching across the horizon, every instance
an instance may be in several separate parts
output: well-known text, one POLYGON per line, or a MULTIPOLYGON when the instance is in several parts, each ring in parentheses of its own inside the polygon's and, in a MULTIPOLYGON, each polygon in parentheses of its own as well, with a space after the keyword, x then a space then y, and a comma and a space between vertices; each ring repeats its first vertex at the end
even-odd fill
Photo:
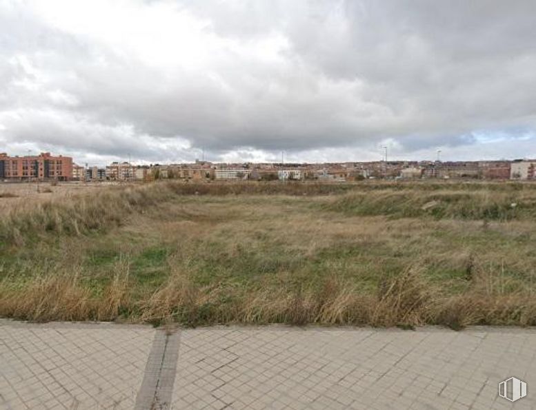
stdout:
MULTIPOLYGON (((534 161, 389 161, 384 147, 382 161, 343 163, 155 163, 136 165, 114 161, 106 167, 85 166, 70 156, 41 152, 10 156, 0 152, 0 181, 325 181, 351 182, 366 178, 471 178, 490 180, 534 180, 534 161)), ((130 159, 130 158, 129 158, 130 159)))

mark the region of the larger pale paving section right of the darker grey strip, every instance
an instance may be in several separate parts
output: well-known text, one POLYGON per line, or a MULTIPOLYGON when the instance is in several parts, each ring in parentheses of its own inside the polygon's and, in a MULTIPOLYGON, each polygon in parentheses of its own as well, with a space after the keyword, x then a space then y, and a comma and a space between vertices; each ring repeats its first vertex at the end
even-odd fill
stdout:
POLYGON ((515 375, 529 386, 515 408, 536 408, 527 346, 534 329, 186 329, 172 409, 190 408, 186 397, 228 409, 510 409, 498 383, 515 375), (211 382, 185 384, 191 373, 211 382))

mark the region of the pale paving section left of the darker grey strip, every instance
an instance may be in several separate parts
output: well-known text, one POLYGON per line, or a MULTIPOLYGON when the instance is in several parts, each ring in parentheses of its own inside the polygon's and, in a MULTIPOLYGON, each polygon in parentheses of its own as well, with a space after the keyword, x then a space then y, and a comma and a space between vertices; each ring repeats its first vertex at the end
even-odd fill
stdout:
POLYGON ((132 409, 154 334, 0 320, 0 409, 132 409))

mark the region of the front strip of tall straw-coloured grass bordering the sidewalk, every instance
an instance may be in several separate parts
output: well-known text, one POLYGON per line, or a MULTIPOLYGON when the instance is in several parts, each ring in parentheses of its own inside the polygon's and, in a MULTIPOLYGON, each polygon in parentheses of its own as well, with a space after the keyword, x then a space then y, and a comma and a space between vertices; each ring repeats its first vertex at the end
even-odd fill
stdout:
MULTIPOLYGON (((129 320, 155 325, 217 323, 291 325, 536 325, 536 300, 530 292, 501 292, 497 278, 477 283, 463 294, 442 296, 422 274, 408 267, 386 276, 377 294, 364 294, 355 283, 330 276, 316 285, 229 283, 197 285, 177 270, 152 294, 132 297, 128 274, 116 274, 95 295, 79 274, 49 274, 27 286, 0 284, 0 316, 22 320, 129 320), (484 290, 487 289, 487 290, 484 290)), ((485 280, 488 280, 486 278, 485 280)))

